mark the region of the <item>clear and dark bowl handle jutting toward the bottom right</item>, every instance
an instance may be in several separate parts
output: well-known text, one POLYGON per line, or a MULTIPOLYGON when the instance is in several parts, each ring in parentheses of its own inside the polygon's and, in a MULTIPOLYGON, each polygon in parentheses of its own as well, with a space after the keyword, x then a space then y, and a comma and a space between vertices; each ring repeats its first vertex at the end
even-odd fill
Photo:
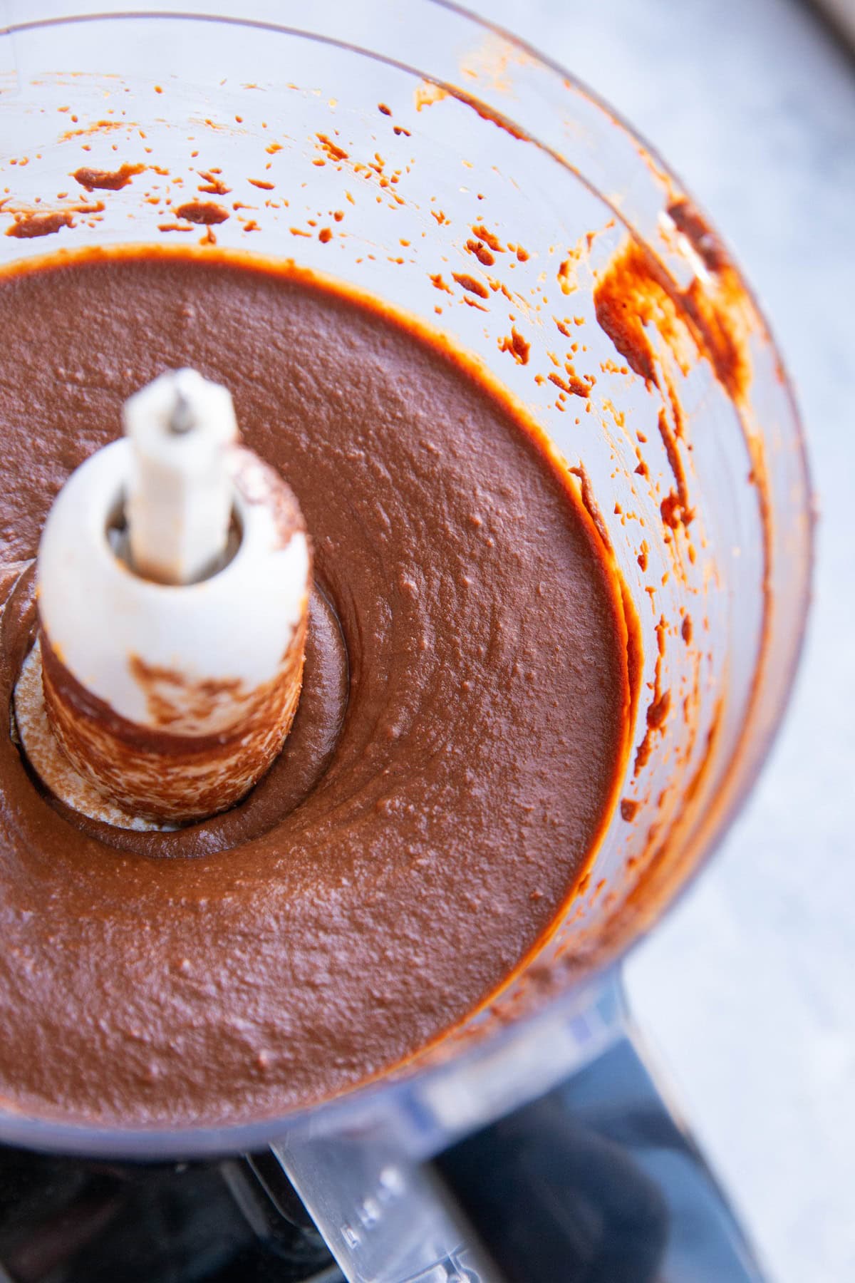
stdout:
POLYGON ((763 1283, 618 973, 509 1035, 270 1147, 347 1283, 763 1283))

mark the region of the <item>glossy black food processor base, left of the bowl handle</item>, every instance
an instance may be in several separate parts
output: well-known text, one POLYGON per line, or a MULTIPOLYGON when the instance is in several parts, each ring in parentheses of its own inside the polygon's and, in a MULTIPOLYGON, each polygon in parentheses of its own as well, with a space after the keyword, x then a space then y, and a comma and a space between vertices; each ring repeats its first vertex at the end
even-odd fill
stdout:
POLYGON ((250 1159, 133 1165, 3 1148, 0 1283, 337 1283, 292 1198, 288 1219, 250 1159))

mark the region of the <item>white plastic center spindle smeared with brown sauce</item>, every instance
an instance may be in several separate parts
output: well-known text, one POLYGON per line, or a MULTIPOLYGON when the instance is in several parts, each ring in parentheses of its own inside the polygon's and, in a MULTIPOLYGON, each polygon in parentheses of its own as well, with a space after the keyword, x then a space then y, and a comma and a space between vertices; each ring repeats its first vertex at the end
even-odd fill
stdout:
POLYGON ((238 444, 227 389, 170 371, 128 399, 124 426, 45 522, 15 715, 69 806, 174 824, 233 806, 282 748, 311 553, 290 488, 238 444))

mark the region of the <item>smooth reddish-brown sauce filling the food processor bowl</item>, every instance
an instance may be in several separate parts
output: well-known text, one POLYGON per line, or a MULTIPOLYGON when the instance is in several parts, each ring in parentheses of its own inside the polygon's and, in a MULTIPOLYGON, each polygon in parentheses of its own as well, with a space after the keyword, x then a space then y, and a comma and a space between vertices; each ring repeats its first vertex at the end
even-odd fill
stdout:
POLYGON ((235 1121, 374 1075, 519 965, 614 804, 627 631, 574 482, 438 340, 285 269, 71 257, 0 277, 0 316, 5 701, 33 576, 4 566, 164 368, 232 390, 323 594, 286 752, 226 816, 81 821, 3 735, 0 1102, 235 1121))

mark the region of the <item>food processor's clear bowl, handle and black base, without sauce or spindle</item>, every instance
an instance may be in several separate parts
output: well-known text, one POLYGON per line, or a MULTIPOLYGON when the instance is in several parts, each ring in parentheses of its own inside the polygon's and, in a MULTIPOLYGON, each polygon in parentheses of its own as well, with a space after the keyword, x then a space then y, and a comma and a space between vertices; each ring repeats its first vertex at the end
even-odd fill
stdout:
POLYGON ((501 992, 281 1117, 0 1107, 0 1278, 760 1279, 619 980, 749 792, 808 604, 797 414, 727 250, 595 95, 437 0, 0 0, 0 266, 217 244, 344 280, 477 359, 576 475, 640 665, 619 804, 501 992))

